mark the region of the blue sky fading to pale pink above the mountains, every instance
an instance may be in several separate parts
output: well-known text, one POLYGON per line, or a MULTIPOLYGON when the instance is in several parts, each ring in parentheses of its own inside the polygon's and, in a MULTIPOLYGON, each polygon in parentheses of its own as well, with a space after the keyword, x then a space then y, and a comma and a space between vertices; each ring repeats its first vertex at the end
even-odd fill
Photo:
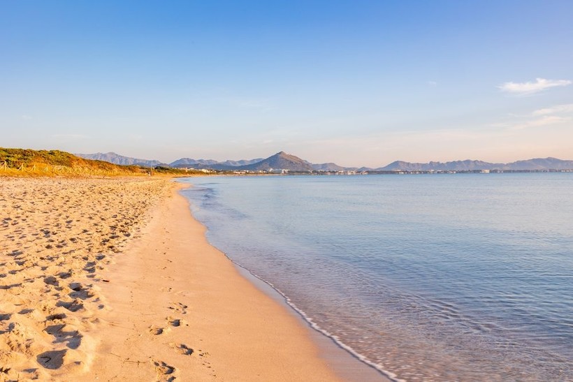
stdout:
POLYGON ((573 1, 0 0, 0 147, 573 159, 573 1))

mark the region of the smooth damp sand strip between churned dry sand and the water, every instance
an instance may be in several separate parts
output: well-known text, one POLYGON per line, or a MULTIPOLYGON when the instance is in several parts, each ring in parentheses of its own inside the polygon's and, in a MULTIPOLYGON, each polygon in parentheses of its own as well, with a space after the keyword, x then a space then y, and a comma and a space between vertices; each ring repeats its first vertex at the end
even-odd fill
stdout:
POLYGON ((305 328, 208 244, 183 196, 153 216, 106 272, 113 308, 90 378, 340 381, 305 328))

